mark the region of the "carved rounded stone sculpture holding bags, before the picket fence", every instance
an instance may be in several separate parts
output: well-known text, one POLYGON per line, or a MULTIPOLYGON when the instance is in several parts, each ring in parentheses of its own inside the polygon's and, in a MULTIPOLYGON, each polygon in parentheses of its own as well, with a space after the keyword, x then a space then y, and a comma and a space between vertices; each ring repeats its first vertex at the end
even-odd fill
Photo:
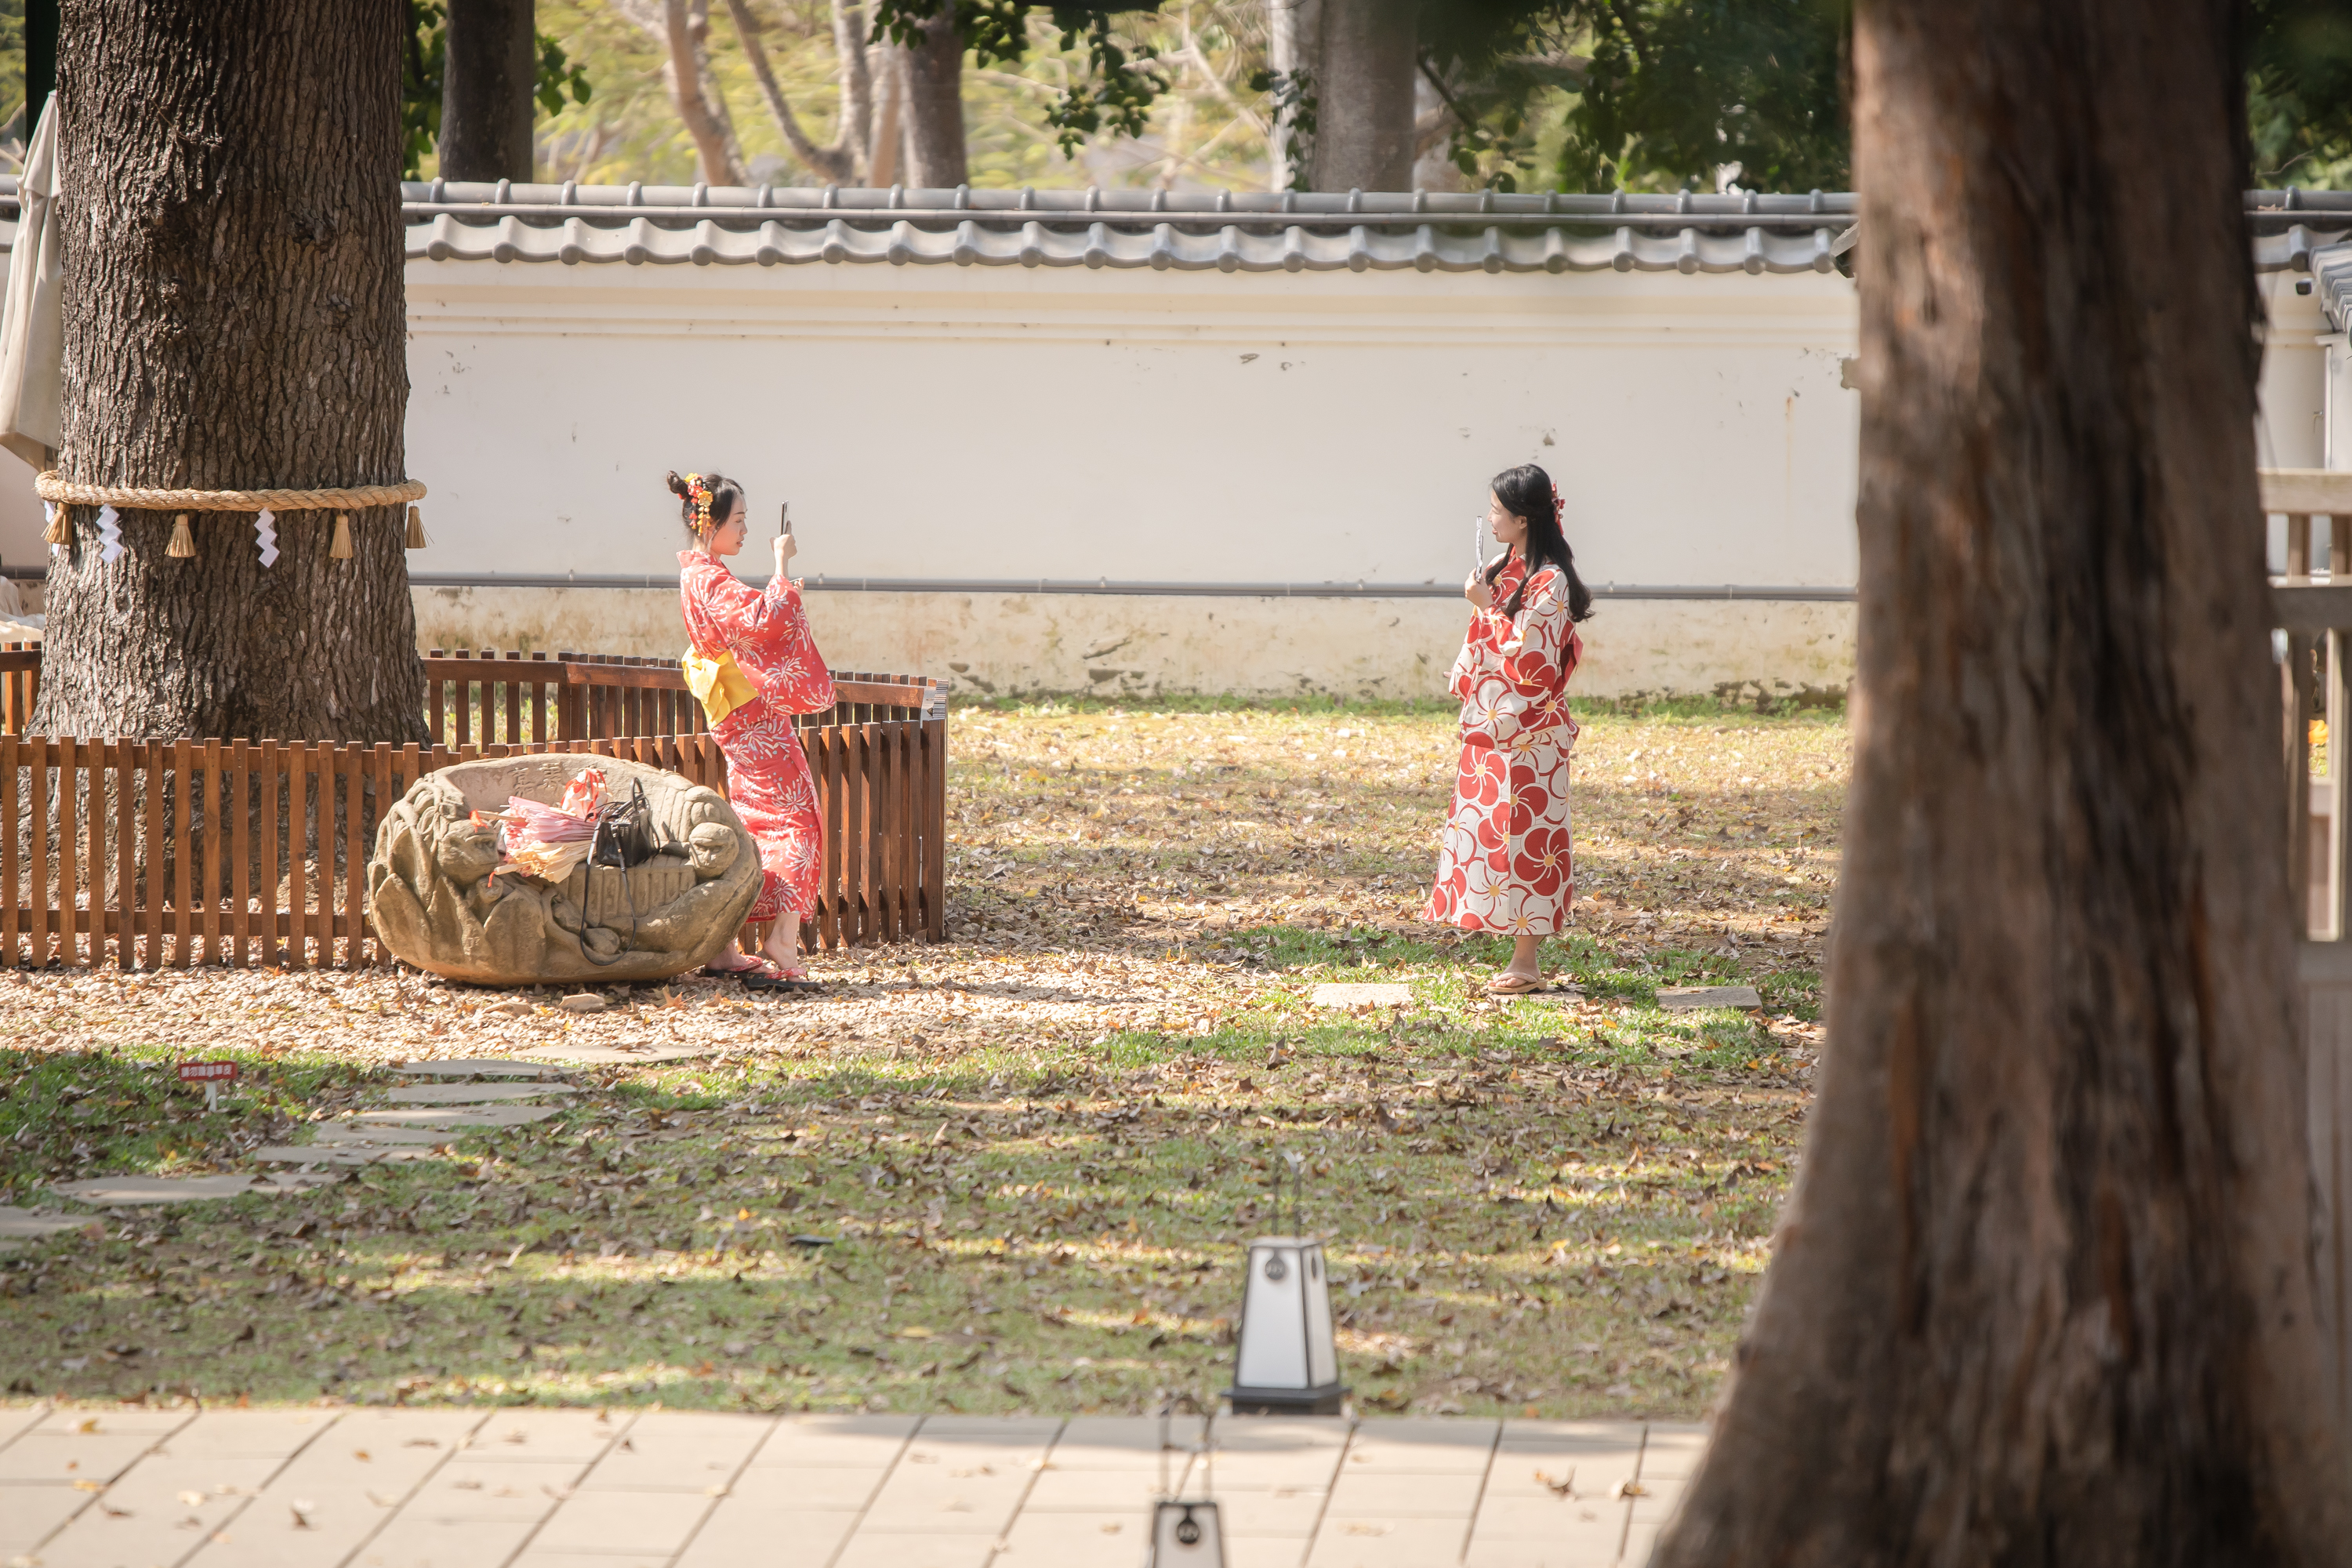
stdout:
POLYGON ((383 945, 477 985, 666 980, 717 957, 757 896, 760 846, 722 795, 640 762, 562 752, 419 778, 383 813, 367 863, 383 945), (644 785, 656 853, 626 870, 581 865, 560 884, 492 877, 496 827, 470 816, 506 811, 510 795, 555 804, 583 766, 602 769, 607 799, 644 785))

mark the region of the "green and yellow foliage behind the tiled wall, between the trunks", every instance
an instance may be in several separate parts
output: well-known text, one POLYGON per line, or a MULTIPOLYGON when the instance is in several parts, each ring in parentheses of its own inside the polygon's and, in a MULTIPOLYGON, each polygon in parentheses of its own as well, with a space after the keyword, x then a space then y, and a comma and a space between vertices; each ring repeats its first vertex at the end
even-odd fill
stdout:
MULTIPOLYGON (((407 162, 435 172, 445 0, 405 0, 407 162)), ((1145 9, 1028 0, 875 0, 889 26, 943 2, 976 49, 964 118, 976 186, 1263 190, 1275 82, 1263 0, 1145 9)), ((1423 73, 1451 113, 1437 153, 1463 188, 1851 188, 1851 0, 1423 0, 1423 73), (1729 174, 1731 167, 1736 174, 1729 174)), ((0 113, 24 101, 24 7, 0 0, 0 113)), ((804 183, 724 7, 710 59, 760 179, 804 183)), ((809 134, 837 115, 826 0, 753 0, 809 134)), ((609 0, 539 0, 539 176, 687 183, 694 146, 654 40, 609 0)), ((2256 186, 2352 183, 2352 0, 2249 0, 2256 186)), ((1312 82, 1303 85, 1312 99, 1312 82)))

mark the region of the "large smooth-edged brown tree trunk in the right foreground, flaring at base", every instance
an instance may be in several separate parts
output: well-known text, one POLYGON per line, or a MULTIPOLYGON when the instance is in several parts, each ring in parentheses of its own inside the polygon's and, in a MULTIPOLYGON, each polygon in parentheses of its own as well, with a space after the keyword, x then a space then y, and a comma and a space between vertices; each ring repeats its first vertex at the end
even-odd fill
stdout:
POLYGON ((2340 1563, 2230 5, 1879 0, 1856 66, 1830 1048, 1653 1563, 2340 1563))

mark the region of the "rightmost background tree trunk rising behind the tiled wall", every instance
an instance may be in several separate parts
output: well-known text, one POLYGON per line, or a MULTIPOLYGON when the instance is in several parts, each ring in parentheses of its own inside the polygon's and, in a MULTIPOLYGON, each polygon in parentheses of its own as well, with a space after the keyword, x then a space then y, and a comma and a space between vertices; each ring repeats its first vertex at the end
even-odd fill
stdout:
POLYGON ((1414 188, 1414 0, 1322 0, 1317 190, 1414 188))

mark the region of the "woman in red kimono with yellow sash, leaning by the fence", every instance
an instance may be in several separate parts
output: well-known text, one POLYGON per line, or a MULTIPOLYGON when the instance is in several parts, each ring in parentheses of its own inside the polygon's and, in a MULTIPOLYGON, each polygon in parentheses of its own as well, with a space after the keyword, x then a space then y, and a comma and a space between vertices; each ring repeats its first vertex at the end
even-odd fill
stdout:
POLYGON ((783 576, 800 545, 779 534, 776 574, 764 590, 753 588, 727 569, 727 557, 743 550, 743 487, 722 475, 673 473, 670 491, 694 536, 694 548, 677 552, 677 602, 691 644, 687 684, 727 752, 727 802, 757 839, 767 870, 750 924, 774 922, 760 957, 729 947, 708 973, 809 990, 816 983, 800 964, 800 922, 816 914, 826 825, 793 715, 833 708, 833 672, 809 635, 800 583, 783 576))

